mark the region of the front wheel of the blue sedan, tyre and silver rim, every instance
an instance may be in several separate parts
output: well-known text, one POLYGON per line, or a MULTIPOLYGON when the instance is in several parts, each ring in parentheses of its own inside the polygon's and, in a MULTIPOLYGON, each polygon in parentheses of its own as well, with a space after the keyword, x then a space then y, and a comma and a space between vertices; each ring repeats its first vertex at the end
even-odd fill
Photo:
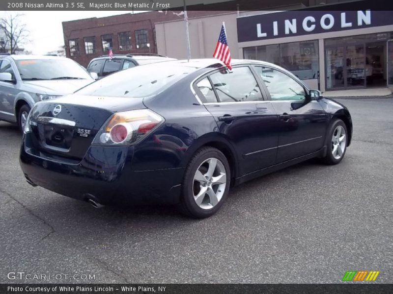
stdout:
POLYGON ((347 147, 347 127, 340 119, 335 120, 328 131, 326 138, 327 152, 323 161, 326 164, 337 164, 345 155, 347 147))

